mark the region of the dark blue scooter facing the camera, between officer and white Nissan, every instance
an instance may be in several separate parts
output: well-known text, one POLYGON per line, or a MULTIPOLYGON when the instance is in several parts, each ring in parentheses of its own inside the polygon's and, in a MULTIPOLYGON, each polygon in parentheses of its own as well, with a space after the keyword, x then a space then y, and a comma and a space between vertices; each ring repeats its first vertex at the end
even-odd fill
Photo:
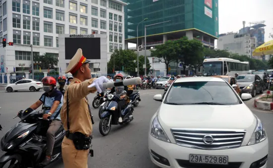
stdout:
POLYGON ((104 104, 104 109, 101 114, 101 119, 99 123, 99 131, 101 135, 106 136, 109 134, 112 125, 118 124, 129 124, 133 119, 134 107, 132 103, 129 103, 124 110, 122 110, 122 123, 118 122, 118 103, 117 100, 120 99, 119 95, 108 94, 106 96, 106 102, 104 104))

